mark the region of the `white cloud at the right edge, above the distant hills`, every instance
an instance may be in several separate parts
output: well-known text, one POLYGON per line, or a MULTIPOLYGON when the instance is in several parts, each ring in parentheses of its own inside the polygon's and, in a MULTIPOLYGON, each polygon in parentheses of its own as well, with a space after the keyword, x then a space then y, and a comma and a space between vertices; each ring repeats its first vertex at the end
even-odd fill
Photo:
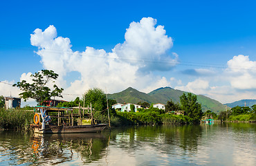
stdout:
MULTIPOLYGON (((199 68, 194 71, 205 71, 205 69, 199 68)), ((214 70, 208 73, 212 74, 201 75, 196 80, 175 88, 207 95, 223 103, 255 99, 256 62, 250 61, 248 56, 234 56, 227 62, 227 68, 220 73, 214 73, 214 70)))

